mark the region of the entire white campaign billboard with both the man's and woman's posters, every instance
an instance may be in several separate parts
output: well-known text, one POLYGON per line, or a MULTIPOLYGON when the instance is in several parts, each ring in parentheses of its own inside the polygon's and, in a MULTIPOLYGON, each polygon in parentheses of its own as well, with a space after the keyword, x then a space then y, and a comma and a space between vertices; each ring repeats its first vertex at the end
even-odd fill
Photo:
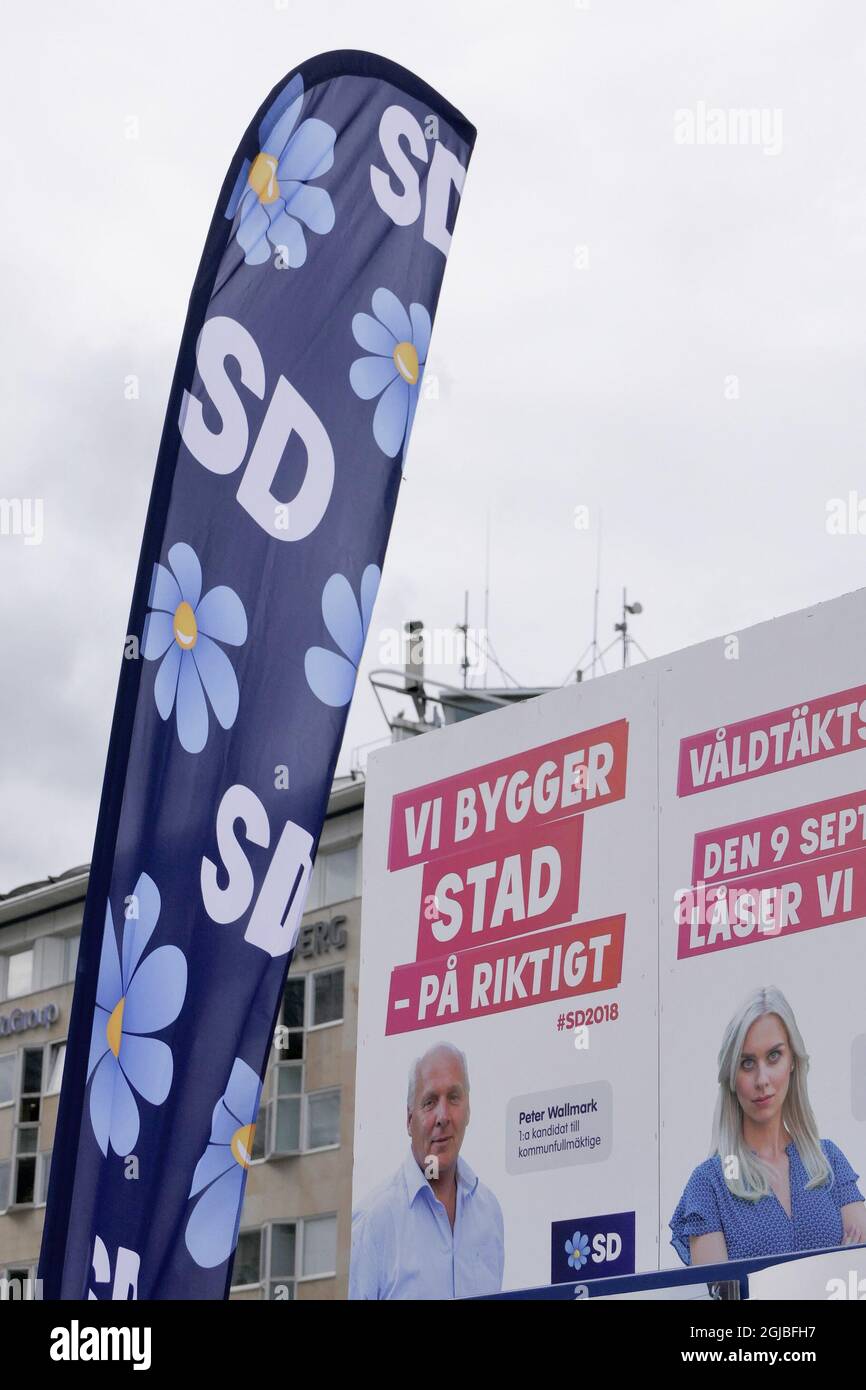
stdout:
POLYGON ((866 1241, 865 649, 862 591, 370 759, 350 1297, 866 1241))

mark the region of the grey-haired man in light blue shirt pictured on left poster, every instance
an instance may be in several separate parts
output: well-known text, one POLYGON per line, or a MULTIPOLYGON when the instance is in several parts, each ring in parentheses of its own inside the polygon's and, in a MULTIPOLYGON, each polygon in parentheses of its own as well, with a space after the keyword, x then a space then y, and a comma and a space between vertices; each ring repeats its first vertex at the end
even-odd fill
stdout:
POLYGON ((409 1069, 403 1163, 352 1222, 350 1298, 473 1298, 502 1289, 502 1208, 460 1156, 463 1052, 436 1042, 409 1069))

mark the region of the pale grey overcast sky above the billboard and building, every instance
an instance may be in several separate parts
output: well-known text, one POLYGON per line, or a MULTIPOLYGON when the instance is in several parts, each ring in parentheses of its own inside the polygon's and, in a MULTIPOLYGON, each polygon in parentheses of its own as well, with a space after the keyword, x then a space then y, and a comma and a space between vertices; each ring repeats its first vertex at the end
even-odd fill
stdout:
POLYGON ((0 891, 90 858, 210 215, 270 88, 339 47, 478 126, 341 770, 386 734, 381 632, 452 627, 464 589, 482 624, 488 516, 492 641, 530 685, 591 639, 599 512, 602 641, 627 585, 649 656, 863 584, 866 535, 826 527, 866 499, 858 0, 8 6, 0 495, 42 498, 44 534, 0 535, 0 891), (712 108, 771 138, 680 143, 712 108))

